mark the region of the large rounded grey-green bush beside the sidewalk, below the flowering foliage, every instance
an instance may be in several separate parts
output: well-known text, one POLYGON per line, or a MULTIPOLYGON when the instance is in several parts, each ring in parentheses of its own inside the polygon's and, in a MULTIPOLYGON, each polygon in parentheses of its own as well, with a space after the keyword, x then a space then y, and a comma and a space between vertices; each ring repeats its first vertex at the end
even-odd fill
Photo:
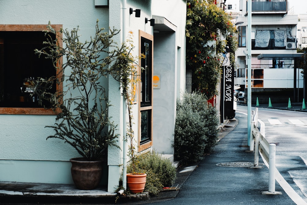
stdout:
POLYGON ((183 164, 198 162, 216 144, 219 119, 216 109, 199 92, 177 100, 174 131, 175 158, 183 164))

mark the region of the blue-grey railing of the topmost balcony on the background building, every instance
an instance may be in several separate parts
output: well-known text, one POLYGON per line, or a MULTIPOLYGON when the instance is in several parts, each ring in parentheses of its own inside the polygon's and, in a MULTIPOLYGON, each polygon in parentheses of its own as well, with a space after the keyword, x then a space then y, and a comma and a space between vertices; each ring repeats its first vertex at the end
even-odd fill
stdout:
MULTIPOLYGON (((246 10, 248 10, 247 6, 248 2, 246 3, 246 10)), ((260 1, 252 1, 251 3, 251 10, 254 11, 287 11, 287 2, 286 0, 283 2, 260 2, 260 1)))

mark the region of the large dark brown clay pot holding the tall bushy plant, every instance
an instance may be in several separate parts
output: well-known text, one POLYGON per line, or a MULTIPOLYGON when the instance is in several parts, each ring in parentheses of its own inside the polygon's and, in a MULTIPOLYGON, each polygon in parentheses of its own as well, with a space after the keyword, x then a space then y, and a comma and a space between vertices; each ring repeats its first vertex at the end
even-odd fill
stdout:
POLYGON ((92 190, 98 187, 102 173, 102 160, 87 161, 84 157, 70 159, 72 163, 72 180, 81 190, 92 190))

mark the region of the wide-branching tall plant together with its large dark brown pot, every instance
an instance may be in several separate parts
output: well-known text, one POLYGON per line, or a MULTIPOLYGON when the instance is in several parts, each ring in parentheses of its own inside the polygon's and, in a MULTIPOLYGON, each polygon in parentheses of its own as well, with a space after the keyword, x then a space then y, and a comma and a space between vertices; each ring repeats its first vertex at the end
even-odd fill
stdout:
POLYGON ((79 189, 89 190, 99 185, 108 145, 119 148, 115 134, 117 125, 108 116, 110 104, 103 78, 116 74, 110 65, 122 57, 124 45, 118 47, 112 41, 119 31, 103 32, 103 28, 98 27, 98 20, 95 36, 90 41, 80 42, 78 30, 79 27, 71 31, 61 29, 58 33, 49 22, 44 31, 49 36, 44 42, 45 47, 35 52, 50 58, 60 75, 45 79, 38 77, 32 89, 40 104, 48 101, 49 108, 58 113, 56 123, 46 126, 55 131, 47 139, 64 140, 82 156, 70 160, 72 178, 79 189), (65 47, 60 46, 59 39, 65 47), (111 47, 113 50, 109 51, 111 47), (65 63, 59 62, 62 57, 65 57, 65 63), (63 90, 51 92, 56 84, 63 84, 63 90))

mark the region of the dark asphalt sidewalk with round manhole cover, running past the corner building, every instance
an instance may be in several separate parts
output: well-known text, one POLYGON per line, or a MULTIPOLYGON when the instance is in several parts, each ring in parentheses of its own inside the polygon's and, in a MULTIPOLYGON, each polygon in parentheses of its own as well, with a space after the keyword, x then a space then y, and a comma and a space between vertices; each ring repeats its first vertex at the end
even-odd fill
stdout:
MULTIPOLYGON (((295 204, 276 181, 275 190, 281 191, 282 195, 261 194, 262 191, 268 191, 269 172, 265 165, 264 168, 248 168, 254 162, 254 153, 247 152, 246 124, 247 117, 239 115, 237 119, 223 124, 218 145, 213 152, 206 155, 199 164, 179 167, 173 187, 153 197, 148 196, 148 193, 120 196, 118 203, 142 204, 169 199, 172 200, 167 203, 176 203, 181 200, 176 197, 181 185, 188 180, 186 187, 197 183, 197 187, 202 187, 197 192, 200 192, 198 195, 201 194, 206 204, 295 204)), ((259 163, 263 163, 261 157, 259 163)), ((197 198, 190 192, 187 196, 197 198)), ((105 187, 82 191, 74 185, 66 184, 0 182, 0 204, 111 204, 115 203, 115 197, 116 194, 107 192, 105 187)))

